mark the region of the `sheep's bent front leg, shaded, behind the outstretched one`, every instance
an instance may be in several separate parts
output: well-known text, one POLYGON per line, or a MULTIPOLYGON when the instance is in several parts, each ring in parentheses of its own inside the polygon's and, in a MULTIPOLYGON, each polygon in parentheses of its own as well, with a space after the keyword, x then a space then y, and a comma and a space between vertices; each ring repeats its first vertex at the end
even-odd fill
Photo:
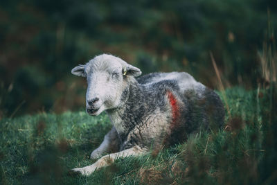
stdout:
POLYGON ((115 127, 105 135, 104 141, 100 144, 96 150, 91 152, 91 159, 98 159, 106 152, 118 152, 119 149, 119 139, 118 133, 115 127))

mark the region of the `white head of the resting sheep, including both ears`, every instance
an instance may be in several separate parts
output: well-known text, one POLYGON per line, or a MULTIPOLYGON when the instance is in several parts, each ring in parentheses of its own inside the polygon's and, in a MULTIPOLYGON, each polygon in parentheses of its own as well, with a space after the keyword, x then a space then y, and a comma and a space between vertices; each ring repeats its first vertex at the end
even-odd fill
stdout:
POLYGON ((74 67, 71 73, 87 78, 87 113, 97 116, 106 109, 120 106, 129 80, 140 76, 141 70, 113 55, 103 54, 74 67))

